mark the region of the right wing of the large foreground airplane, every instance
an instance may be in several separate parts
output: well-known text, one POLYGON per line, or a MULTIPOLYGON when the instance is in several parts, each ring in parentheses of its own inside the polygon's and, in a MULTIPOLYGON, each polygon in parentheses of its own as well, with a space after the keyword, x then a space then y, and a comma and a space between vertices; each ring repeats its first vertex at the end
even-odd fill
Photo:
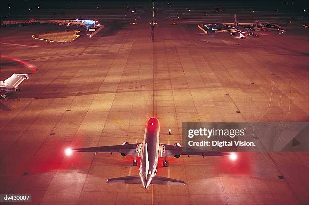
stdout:
POLYGON ((201 156, 229 156, 229 153, 218 152, 218 151, 204 151, 192 148, 185 148, 181 146, 161 144, 164 146, 163 156, 172 156, 172 155, 201 155, 201 156))

